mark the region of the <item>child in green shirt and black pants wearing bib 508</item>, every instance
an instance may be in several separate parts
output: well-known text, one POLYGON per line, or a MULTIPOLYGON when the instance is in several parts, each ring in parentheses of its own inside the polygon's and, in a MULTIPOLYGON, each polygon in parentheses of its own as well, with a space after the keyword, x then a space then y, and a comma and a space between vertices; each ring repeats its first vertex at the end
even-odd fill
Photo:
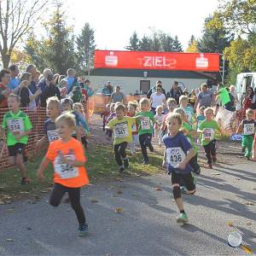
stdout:
POLYGON ((206 108, 206 119, 201 122, 201 125, 198 128, 198 132, 201 133, 201 145, 205 148, 207 163, 210 169, 212 169, 212 161, 217 161, 215 132, 219 131, 221 133, 218 123, 213 120, 213 113, 214 111, 212 108, 206 108))

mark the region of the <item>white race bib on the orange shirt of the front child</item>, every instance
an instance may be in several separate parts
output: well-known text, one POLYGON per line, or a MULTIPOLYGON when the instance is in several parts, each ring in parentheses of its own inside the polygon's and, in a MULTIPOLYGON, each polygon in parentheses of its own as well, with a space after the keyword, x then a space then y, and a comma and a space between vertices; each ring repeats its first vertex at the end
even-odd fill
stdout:
MULTIPOLYGON (((65 156, 68 160, 75 160, 74 154, 65 154, 65 156)), ((55 172, 63 179, 79 176, 79 169, 62 163, 59 156, 55 158, 55 172)))

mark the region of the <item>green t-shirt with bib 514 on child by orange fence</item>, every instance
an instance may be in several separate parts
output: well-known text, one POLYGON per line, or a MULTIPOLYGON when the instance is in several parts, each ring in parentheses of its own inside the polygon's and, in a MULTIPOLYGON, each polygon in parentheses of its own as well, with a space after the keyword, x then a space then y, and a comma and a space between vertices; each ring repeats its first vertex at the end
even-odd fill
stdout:
POLYGON ((18 113, 9 111, 3 116, 2 128, 7 128, 7 145, 13 146, 16 143, 26 144, 28 137, 21 137, 20 140, 15 138, 15 134, 19 134, 20 131, 28 131, 32 129, 32 123, 26 113, 19 110, 18 113))

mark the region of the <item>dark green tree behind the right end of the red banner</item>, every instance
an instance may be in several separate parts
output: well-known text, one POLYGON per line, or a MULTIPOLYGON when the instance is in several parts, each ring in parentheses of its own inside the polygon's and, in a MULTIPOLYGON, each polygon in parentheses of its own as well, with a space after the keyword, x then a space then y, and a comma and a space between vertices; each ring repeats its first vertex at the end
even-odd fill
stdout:
POLYGON ((198 41, 198 49, 200 52, 223 53, 224 49, 230 46, 230 40, 234 37, 229 35, 223 24, 218 27, 209 27, 212 16, 205 20, 203 35, 198 41))

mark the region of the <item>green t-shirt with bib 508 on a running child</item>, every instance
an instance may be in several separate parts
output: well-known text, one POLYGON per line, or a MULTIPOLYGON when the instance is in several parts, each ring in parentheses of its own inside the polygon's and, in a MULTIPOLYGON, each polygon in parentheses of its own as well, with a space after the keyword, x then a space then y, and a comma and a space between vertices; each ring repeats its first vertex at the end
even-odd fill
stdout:
POLYGON ((215 131, 218 131, 218 123, 215 120, 210 122, 205 119, 201 122, 199 130, 203 131, 201 134, 201 145, 206 146, 215 139, 215 131))

